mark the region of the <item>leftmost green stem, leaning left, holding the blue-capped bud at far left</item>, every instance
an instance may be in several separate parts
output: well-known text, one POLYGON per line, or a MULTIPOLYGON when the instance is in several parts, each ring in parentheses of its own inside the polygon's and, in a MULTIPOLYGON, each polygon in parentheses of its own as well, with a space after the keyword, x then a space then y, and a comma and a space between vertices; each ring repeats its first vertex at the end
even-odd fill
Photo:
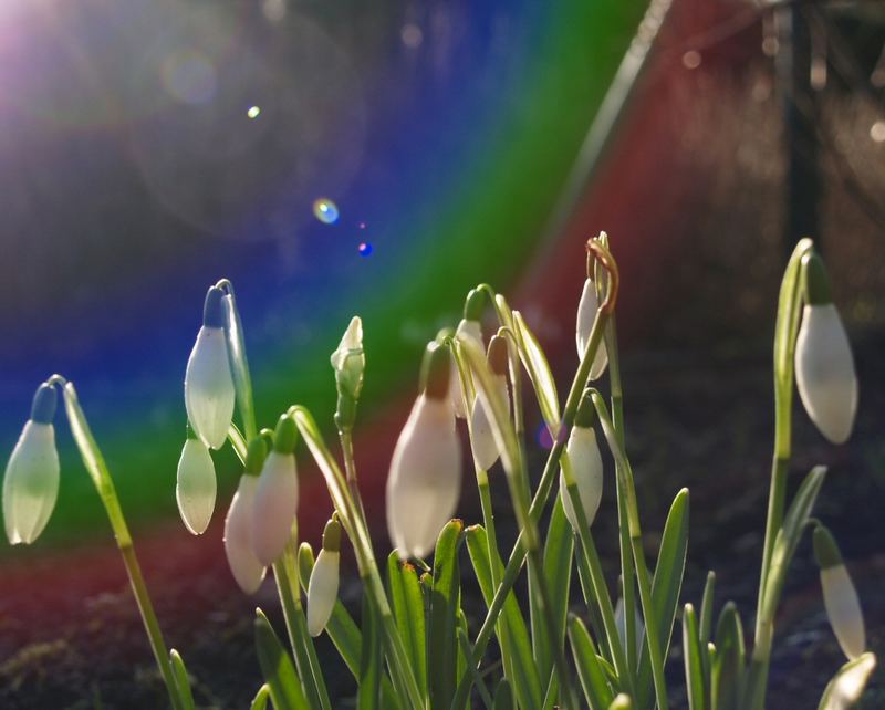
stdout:
POLYGON ((119 499, 117 498, 111 472, 104 461, 104 456, 92 436, 73 384, 60 375, 53 375, 50 378, 50 383, 62 384, 64 387, 64 405, 74 441, 80 449, 80 456, 83 458, 83 463, 92 478, 92 482, 95 484, 95 490, 98 492, 98 498, 111 522, 111 529, 114 532, 119 554, 123 557, 123 564, 126 567, 126 574, 135 594, 135 601, 138 604, 138 612, 142 614, 142 622, 144 622, 145 630, 147 631, 150 649, 154 651, 154 658, 169 693, 169 700, 175 710, 184 710, 185 703, 175 682, 175 674, 169 662, 169 651, 166 648, 166 641, 163 638, 163 631, 160 631, 159 622, 157 622, 157 615, 154 612, 154 605, 147 592, 147 585, 142 576, 142 567, 135 555, 132 535, 123 515, 123 509, 119 507, 119 499))

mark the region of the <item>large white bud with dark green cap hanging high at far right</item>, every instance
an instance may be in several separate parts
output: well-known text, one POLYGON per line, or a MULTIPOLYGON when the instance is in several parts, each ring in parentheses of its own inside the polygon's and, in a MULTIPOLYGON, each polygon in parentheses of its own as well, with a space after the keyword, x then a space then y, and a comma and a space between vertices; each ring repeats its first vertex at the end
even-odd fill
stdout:
POLYGON ((848 337, 830 294, 830 282, 818 254, 802 259, 805 306, 795 342, 799 396, 821 434, 833 443, 851 436, 857 409, 857 377, 848 337))

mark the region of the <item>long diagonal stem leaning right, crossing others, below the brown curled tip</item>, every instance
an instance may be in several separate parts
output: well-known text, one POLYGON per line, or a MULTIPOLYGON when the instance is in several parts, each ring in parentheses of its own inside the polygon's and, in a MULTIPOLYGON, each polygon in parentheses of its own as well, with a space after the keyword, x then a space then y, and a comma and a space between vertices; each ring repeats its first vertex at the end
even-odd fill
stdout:
MULTIPOLYGON (((581 358, 581 364, 579 365, 577 372, 572 380, 572 386, 569 390, 569 397, 565 400, 565 409, 562 413, 562 427, 566 430, 570 429, 574 424, 574 417, 575 414, 577 414, 577 405, 581 404, 584 385, 590 376, 590 368, 593 364, 593 358, 596 356, 596 351, 600 347, 600 343, 602 342, 603 328, 605 327, 608 317, 610 313, 601 309, 596 316, 596 321, 593 324, 593 328, 590 332, 590 338, 587 340, 584 356, 581 358)), ((550 498, 550 491, 553 488, 553 481, 555 480, 555 474, 558 472, 560 457, 562 456, 564 449, 564 438, 556 437, 553 448, 551 448, 550 455, 548 456, 546 463, 544 464, 544 471, 541 474, 540 482, 538 483, 538 490, 534 493, 531 508, 529 509, 529 518, 534 522, 535 525, 541 520, 541 514, 546 505, 548 499, 550 498)), ((486 647, 491 638, 492 631, 494 630, 498 616, 503 608, 504 599, 513 588, 513 584, 519 576, 522 563, 525 561, 525 531, 521 530, 519 536, 517 537, 517 542, 510 552, 510 557, 508 558, 507 566, 504 567, 504 574, 501 578, 501 584, 494 593, 494 598, 489 606, 489 610, 486 613, 486 619, 482 622, 482 627, 479 629, 477 639, 473 643, 473 658, 471 662, 475 666, 478 666, 482 660, 482 655, 486 652, 486 647)), ((459 710, 464 707, 464 704, 467 702, 467 696, 469 692, 470 674, 469 671, 465 671, 461 676, 461 680, 458 683, 458 691, 456 692, 455 700, 451 704, 452 710, 459 710)))

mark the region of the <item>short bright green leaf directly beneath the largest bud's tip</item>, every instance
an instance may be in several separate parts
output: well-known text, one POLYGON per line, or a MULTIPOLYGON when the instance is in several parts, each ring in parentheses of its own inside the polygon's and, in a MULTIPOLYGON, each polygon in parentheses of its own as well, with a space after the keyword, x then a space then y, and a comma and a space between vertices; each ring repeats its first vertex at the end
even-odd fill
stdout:
POLYGON ((421 585, 415 567, 407 562, 400 562, 396 551, 387 557, 387 583, 391 588, 391 606, 396 627, 412 659, 418 688, 421 693, 426 693, 427 637, 421 585))

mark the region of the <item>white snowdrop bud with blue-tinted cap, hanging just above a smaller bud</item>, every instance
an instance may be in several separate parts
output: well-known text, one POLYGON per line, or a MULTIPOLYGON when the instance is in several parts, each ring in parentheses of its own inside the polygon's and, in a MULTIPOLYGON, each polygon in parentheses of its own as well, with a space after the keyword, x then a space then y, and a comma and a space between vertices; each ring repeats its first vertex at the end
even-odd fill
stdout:
POLYGON ((220 449, 228 436, 236 398, 225 333, 225 293, 212 286, 206 294, 202 327, 185 374, 187 418, 202 442, 220 449))

